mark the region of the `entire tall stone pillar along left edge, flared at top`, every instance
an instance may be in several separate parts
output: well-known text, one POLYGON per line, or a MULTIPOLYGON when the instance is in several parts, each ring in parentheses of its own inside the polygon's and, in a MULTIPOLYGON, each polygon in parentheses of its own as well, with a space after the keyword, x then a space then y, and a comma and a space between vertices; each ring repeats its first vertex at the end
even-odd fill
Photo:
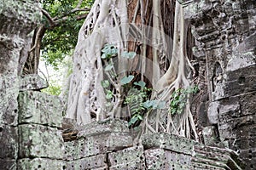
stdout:
POLYGON ((40 12, 34 0, 0 3, 0 169, 16 169, 19 148, 20 60, 26 60, 29 33, 40 12))

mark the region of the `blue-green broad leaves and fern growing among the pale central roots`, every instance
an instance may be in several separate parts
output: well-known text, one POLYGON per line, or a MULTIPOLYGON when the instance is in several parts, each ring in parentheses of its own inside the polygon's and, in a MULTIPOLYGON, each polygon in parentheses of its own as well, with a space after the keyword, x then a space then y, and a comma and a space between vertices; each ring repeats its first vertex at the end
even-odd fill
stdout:
MULTIPOLYGON (((107 44, 102 48, 101 58, 105 61, 104 71, 110 72, 114 70, 112 58, 118 55, 118 51, 118 48, 111 44, 107 44)), ((137 54, 135 52, 125 51, 121 53, 121 57, 127 59, 134 59, 136 55, 137 54)), ((129 126, 135 124, 137 121, 142 121, 144 112, 148 110, 164 109, 166 107, 165 101, 149 99, 148 94, 151 94, 152 89, 147 88, 145 82, 133 82, 131 85, 133 79, 133 75, 128 75, 121 77, 120 81, 117 82, 119 85, 125 87, 126 91, 128 91, 126 93, 124 92, 124 94, 126 94, 124 104, 128 106, 128 110, 131 115, 130 122, 128 123, 129 126)), ((108 80, 103 80, 102 88, 105 89, 108 105, 111 105, 111 99, 113 99, 114 94, 113 91, 110 90, 110 82, 108 80)))

